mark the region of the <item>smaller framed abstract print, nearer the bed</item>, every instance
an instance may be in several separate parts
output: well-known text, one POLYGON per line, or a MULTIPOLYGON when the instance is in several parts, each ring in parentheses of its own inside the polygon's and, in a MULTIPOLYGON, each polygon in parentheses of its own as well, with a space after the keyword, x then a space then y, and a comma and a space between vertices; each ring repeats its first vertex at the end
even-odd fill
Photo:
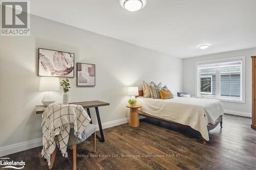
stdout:
POLYGON ((77 86, 95 86, 95 64, 76 63, 77 86))

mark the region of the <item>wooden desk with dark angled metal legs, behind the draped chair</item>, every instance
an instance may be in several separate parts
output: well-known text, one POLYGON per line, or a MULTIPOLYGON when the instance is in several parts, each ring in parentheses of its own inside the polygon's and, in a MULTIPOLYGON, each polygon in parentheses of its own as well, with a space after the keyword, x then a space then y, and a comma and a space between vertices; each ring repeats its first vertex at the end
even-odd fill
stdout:
MULTIPOLYGON (((70 105, 81 105, 84 109, 87 109, 87 113, 90 116, 90 118, 91 118, 90 108, 93 108, 93 107, 95 108, 96 116, 97 116, 97 120, 98 120, 98 124, 99 124, 99 132, 100 132, 100 136, 96 135, 96 137, 101 142, 105 141, 102 126, 101 126, 98 107, 100 107, 100 106, 109 106, 110 104, 105 103, 105 102, 101 102, 101 101, 88 101, 88 102, 70 103, 70 105)), ((47 108, 46 106, 42 106, 42 105, 35 106, 36 114, 42 114, 45 111, 46 108, 47 108)), ((90 124, 92 124, 92 120, 91 120, 90 124)))

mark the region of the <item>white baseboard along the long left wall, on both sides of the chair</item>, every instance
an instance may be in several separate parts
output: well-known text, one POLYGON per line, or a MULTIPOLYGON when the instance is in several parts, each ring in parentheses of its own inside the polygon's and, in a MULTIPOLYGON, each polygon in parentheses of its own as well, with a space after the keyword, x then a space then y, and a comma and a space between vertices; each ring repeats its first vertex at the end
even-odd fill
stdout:
MULTIPOLYGON (((118 120, 113 120, 111 122, 103 123, 102 128, 106 129, 106 128, 110 128, 113 126, 125 124, 128 121, 129 121, 129 117, 118 119, 118 120)), ((99 130, 99 126, 98 125, 96 125, 96 126, 97 126, 97 130, 99 130)), ((17 153, 20 151, 25 151, 28 149, 36 148, 41 145, 42 145, 42 138, 38 138, 38 139, 28 140, 25 142, 7 145, 5 147, 0 147, 0 157, 9 155, 9 154, 13 154, 13 153, 17 153)))

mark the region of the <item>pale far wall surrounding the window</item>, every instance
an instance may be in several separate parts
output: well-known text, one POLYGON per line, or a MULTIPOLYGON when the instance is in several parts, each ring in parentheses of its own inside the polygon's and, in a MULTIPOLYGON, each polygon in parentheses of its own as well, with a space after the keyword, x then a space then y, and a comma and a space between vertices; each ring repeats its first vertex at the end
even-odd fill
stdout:
POLYGON ((196 62, 223 59, 230 57, 246 56, 246 83, 245 83, 245 104, 223 102, 226 113, 251 116, 251 56, 256 55, 256 48, 232 51, 226 53, 212 54, 206 56, 183 59, 183 91, 196 94, 196 62))

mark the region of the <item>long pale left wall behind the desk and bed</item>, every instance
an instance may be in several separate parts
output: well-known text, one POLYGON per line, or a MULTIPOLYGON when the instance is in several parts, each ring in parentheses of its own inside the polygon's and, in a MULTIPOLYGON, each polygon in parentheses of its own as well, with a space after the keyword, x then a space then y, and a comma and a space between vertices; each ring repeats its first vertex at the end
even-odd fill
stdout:
MULTIPOLYGON (((73 52, 75 63, 96 64, 96 86, 76 87, 75 74, 69 93, 70 102, 109 102, 99 108, 102 123, 129 115, 127 86, 142 87, 145 80, 162 81, 174 94, 182 89, 182 59, 32 15, 30 37, 0 37, 0 151, 41 137, 41 114, 35 114, 44 95, 38 91, 38 47, 73 52)), ((61 93, 54 93, 57 103, 61 93)))

